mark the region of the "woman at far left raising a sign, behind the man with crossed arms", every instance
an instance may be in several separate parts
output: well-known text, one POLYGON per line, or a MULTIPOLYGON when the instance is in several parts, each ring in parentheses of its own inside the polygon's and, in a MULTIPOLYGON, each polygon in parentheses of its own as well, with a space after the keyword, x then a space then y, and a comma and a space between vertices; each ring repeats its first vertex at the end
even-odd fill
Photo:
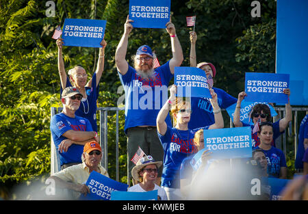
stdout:
POLYGON ((75 66, 68 70, 68 76, 64 68, 64 60, 62 57, 62 45, 64 40, 62 38, 57 39, 57 68, 59 70, 61 80, 61 93, 67 87, 75 87, 82 94, 81 104, 76 111, 76 115, 87 118, 93 131, 97 131, 97 98, 99 98, 99 81, 104 70, 104 56, 105 47, 107 42, 101 41, 101 48, 99 49, 99 61, 97 62, 97 70, 94 75, 88 79, 88 74, 81 66, 75 66), (71 81, 71 82, 70 82, 71 81))

